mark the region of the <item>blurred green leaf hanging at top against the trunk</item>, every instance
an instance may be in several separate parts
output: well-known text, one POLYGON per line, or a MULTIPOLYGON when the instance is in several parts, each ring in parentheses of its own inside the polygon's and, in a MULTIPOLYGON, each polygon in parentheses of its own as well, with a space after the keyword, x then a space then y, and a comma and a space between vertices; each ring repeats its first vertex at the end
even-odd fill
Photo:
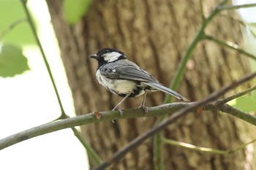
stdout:
POLYGON ((91 0, 64 0, 64 16, 69 24, 77 23, 83 15, 86 15, 91 0))

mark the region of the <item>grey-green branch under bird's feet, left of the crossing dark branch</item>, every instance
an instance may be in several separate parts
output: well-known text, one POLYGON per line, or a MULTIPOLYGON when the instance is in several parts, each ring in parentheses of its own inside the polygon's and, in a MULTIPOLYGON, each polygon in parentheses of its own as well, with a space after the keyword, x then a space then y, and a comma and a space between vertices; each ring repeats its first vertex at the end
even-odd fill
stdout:
POLYGON ((23 142, 26 139, 31 139, 36 136, 43 134, 49 134, 53 131, 59 131, 64 128, 72 128, 78 125, 86 125, 89 123, 98 123, 102 121, 111 121, 118 119, 127 119, 134 117, 158 117, 162 115, 167 115, 172 112, 176 112, 178 109, 186 107, 188 103, 172 103, 165 104, 158 107, 148 107, 148 114, 145 115, 143 109, 124 109, 123 115, 121 116, 118 111, 106 111, 97 112, 100 115, 100 119, 94 112, 90 112, 84 115, 79 115, 76 117, 70 117, 63 120, 58 120, 55 122, 46 123, 44 125, 39 125, 34 128, 30 128, 26 131, 21 131, 18 134, 13 134, 4 139, 0 140, 0 150, 11 146, 12 144, 17 144, 18 142, 23 142), (159 113, 161 112, 161 113, 159 113))

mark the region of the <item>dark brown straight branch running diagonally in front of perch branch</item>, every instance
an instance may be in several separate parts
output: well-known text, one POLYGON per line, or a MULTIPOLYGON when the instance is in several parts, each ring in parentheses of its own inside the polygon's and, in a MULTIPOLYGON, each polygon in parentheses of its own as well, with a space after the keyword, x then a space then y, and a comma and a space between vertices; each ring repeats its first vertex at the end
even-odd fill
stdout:
POLYGON ((197 107, 201 107, 207 104, 209 101, 212 101, 218 98, 219 96, 222 96, 228 90, 236 88, 241 83, 246 82, 255 76, 256 76, 256 73, 249 74, 249 76, 246 76, 241 80, 238 80, 236 82, 231 83, 230 85, 227 85, 225 88, 221 88, 215 91, 214 93, 211 93, 208 97, 204 98, 202 101, 197 101, 195 103, 189 104, 187 107, 184 107, 183 109, 180 109, 178 112, 173 113, 173 115, 170 115, 170 117, 162 121, 162 123, 155 125, 153 128, 146 131, 144 134, 141 134, 140 136, 133 139, 131 142, 129 142, 129 144, 127 144, 126 146, 118 150, 116 153, 114 153, 113 156, 108 159, 108 161, 105 161, 100 166, 96 167, 94 170, 101 170, 101 169, 107 168, 108 166, 110 166, 111 163, 114 163, 119 159, 123 158, 124 155, 127 154, 127 152, 135 149, 135 147, 138 147, 142 142, 144 142, 146 139, 150 138, 151 136, 154 136, 154 134, 156 134, 157 132, 162 131, 167 125, 174 123, 178 118, 184 117, 192 110, 197 109, 197 107))

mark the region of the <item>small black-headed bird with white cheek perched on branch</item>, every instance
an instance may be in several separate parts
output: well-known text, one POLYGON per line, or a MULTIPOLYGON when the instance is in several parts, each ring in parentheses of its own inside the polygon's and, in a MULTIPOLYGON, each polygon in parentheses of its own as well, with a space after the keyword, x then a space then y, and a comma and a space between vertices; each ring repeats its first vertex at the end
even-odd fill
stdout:
POLYGON ((103 48, 96 54, 90 55, 98 61, 96 78, 98 82, 107 88, 111 93, 123 97, 123 99, 113 108, 118 110, 125 99, 137 97, 144 94, 140 108, 147 113, 148 109, 144 106, 148 91, 161 90, 180 100, 189 101, 176 91, 161 85, 151 74, 129 61, 127 56, 116 48, 103 48))

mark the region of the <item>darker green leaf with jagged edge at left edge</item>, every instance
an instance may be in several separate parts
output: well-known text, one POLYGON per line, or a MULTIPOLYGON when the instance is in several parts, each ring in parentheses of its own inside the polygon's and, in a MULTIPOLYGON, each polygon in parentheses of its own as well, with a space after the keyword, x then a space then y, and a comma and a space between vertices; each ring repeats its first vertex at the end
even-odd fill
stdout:
POLYGON ((14 45, 0 46, 0 76, 14 77, 29 70, 28 60, 20 47, 14 45))

